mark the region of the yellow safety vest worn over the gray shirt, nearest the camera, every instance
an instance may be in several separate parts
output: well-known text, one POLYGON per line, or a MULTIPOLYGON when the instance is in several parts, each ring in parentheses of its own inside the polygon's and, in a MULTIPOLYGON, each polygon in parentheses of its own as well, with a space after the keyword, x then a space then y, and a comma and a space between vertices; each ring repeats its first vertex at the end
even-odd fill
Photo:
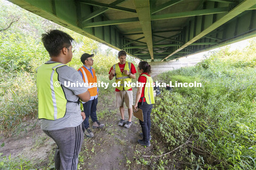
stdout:
POLYGON ((59 85, 56 69, 65 66, 62 63, 43 64, 36 70, 38 94, 38 118, 57 120, 66 114, 67 99, 59 85))

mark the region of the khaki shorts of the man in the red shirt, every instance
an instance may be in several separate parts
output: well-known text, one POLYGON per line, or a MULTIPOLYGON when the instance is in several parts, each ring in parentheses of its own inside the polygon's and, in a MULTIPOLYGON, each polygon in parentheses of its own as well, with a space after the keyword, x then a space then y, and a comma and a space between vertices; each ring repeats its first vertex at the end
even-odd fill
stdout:
POLYGON ((116 107, 123 106, 124 102, 127 108, 132 108, 132 90, 116 91, 116 107))

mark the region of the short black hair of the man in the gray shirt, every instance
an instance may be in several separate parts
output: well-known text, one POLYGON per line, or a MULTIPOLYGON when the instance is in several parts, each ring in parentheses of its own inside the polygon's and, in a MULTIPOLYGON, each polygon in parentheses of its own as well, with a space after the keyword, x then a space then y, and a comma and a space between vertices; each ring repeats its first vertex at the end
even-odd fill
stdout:
POLYGON ((68 48, 73 40, 66 32, 60 30, 50 30, 42 34, 44 47, 51 57, 58 56, 60 50, 63 47, 68 48))

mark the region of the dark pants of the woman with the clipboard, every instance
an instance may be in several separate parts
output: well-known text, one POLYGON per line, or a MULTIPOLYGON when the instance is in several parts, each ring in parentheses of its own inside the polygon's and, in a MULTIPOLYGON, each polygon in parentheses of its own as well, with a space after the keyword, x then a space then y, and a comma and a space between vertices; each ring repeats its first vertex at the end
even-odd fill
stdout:
POLYGON ((145 142, 148 142, 149 135, 150 135, 150 126, 151 126, 150 114, 153 108, 153 104, 149 105, 147 104, 147 102, 143 102, 143 105, 141 105, 141 103, 138 103, 138 108, 142 109, 142 112, 143 112, 144 122, 140 121, 141 129, 143 133, 143 140, 145 142))

